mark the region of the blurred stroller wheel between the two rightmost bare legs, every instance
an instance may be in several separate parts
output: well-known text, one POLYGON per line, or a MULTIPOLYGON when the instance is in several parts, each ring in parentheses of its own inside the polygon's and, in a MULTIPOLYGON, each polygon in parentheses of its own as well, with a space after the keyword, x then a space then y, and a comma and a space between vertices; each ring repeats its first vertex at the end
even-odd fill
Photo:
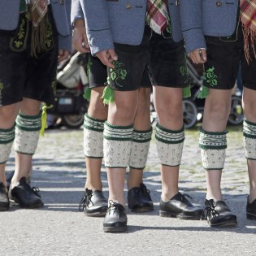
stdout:
POLYGON ((238 125, 243 122, 243 119, 244 112, 241 105, 241 97, 233 95, 231 99, 231 111, 228 116, 228 124, 238 125))

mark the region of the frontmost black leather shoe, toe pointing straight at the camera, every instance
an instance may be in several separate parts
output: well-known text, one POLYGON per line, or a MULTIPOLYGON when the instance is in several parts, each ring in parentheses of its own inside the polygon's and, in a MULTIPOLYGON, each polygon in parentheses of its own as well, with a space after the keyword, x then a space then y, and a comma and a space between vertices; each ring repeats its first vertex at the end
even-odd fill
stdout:
POLYGON ((124 232, 127 230, 125 208, 117 202, 110 201, 103 222, 104 232, 124 232))

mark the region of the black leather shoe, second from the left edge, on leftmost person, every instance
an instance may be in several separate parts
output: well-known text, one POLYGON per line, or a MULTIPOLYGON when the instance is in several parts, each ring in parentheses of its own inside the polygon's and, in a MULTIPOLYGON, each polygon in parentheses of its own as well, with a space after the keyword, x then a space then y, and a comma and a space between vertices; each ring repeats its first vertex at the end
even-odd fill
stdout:
POLYGON ((44 205, 37 188, 31 188, 27 179, 22 177, 13 189, 9 189, 9 198, 22 208, 38 208, 44 205))

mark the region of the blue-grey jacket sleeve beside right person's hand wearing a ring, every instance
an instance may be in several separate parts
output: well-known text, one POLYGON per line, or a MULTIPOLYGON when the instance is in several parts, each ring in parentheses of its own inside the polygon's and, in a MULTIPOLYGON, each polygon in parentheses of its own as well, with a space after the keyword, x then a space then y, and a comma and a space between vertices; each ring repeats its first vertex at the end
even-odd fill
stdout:
POLYGON ((202 31, 202 1, 204 0, 180 0, 181 29, 188 54, 199 48, 206 49, 202 31))

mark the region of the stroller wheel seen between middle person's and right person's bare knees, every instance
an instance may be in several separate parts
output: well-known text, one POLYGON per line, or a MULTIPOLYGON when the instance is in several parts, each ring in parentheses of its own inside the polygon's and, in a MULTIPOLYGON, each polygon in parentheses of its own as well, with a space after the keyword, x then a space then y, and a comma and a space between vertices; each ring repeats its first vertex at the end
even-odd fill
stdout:
POLYGON ((184 99, 182 105, 184 127, 192 128, 197 123, 197 106, 189 99, 184 99))

